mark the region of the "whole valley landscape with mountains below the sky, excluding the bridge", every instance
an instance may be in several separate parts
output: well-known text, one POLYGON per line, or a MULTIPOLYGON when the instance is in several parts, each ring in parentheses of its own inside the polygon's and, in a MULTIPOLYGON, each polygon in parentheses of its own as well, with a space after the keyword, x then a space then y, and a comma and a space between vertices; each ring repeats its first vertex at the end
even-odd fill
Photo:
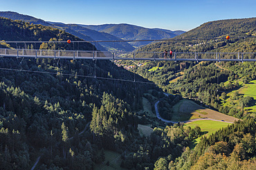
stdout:
MULTIPOLYGON (((136 49, 132 53, 147 57, 172 49, 184 58, 199 52, 216 57, 218 51, 226 54, 223 59, 246 51, 245 58, 255 59, 255 18, 210 21, 175 35, 131 24, 89 26, 3 14, 4 51, 136 49), (111 46, 91 41, 142 35, 170 40, 111 46)), ((0 58, 0 169, 255 167, 255 62, 5 55, 0 58)))

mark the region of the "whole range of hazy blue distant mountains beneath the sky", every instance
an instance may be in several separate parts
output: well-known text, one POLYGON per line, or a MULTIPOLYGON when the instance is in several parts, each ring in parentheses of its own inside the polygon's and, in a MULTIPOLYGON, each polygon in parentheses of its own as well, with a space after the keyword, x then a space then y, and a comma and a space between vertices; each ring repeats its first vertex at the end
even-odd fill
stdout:
MULTIPOLYGON (((6 17, 12 20, 22 20, 33 24, 42 24, 43 26, 51 26, 59 28, 71 33, 86 41, 102 40, 102 41, 121 41, 121 40, 141 40, 141 39, 171 39, 177 35, 184 33, 182 30, 172 31, 161 28, 143 28, 126 23, 121 24, 103 24, 99 26, 88 26, 82 24, 66 24, 60 22, 44 21, 28 15, 21 15, 17 12, 0 12, 0 17, 6 17)), ((108 42, 98 43, 97 48, 100 50, 134 50, 134 47, 145 46, 152 41, 143 42, 108 42)))

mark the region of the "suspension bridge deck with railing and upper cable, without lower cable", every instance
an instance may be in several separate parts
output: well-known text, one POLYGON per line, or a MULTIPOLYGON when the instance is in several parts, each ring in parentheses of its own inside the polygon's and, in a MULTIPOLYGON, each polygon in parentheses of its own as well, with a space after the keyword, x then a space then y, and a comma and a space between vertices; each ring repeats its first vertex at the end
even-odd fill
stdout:
MULTIPOLYGON (((242 37, 244 40, 247 37, 242 37)), ((254 37, 249 37, 254 38, 254 37)), ((156 39, 156 40, 123 40, 123 41, 217 41, 222 38, 211 39, 156 39)), ((234 37, 234 39, 241 39, 241 37, 234 37)), ((102 42, 121 42, 121 41, 72 41, 73 44, 81 44, 89 42, 91 44, 102 42)), ((42 44, 42 41, 0 41, 0 44, 42 44)), ((45 43, 52 44, 67 44, 67 41, 46 41, 45 43)), ((68 44, 71 41, 68 40, 68 44)), ((196 44, 199 46, 199 44, 196 44)), ((2 48, 0 46, 0 57, 23 57, 23 58, 50 58, 50 59, 91 59, 91 60, 149 60, 149 61, 190 61, 190 62, 256 62, 256 53, 252 52, 176 52, 173 51, 172 55, 168 54, 164 57, 164 52, 148 52, 138 51, 133 52, 107 50, 42 50, 42 49, 26 49, 26 48, 2 48)), ((26 47, 26 45, 24 46, 26 47)))

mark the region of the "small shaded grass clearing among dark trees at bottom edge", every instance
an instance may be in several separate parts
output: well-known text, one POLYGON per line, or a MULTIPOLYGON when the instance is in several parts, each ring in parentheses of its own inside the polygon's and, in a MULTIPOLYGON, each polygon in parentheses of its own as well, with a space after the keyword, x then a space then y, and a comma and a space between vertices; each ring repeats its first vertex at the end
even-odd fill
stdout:
POLYGON ((120 159, 120 153, 116 153, 114 151, 104 151, 105 153, 105 161, 102 164, 94 164, 95 170, 105 169, 105 170, 125 170, 120 167, 122 160, 120 159), (107 162, 109 161, 110 165, 107 166, 107 162))

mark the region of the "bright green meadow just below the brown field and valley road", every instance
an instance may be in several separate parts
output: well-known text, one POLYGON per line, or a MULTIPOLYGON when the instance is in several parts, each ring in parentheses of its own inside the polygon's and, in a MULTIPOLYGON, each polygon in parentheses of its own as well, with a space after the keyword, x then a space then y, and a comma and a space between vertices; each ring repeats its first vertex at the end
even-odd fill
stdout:
MULTIPOLYGON (((198 120, 194 122, 185 123, 185 126, 190 126, 191 128, 195 128, 196 126, 199 126, 203 134, 208 136, 218 131, 219 129, 228 126, 228 124, 231 124, 231 123, 217 122, 212 120, 198 120)), ((190 145, 190 148, 193 148, 196 144, 198 144, 200 142, 200 139, 201 137, 196 138, 194 143, 190 145)))

